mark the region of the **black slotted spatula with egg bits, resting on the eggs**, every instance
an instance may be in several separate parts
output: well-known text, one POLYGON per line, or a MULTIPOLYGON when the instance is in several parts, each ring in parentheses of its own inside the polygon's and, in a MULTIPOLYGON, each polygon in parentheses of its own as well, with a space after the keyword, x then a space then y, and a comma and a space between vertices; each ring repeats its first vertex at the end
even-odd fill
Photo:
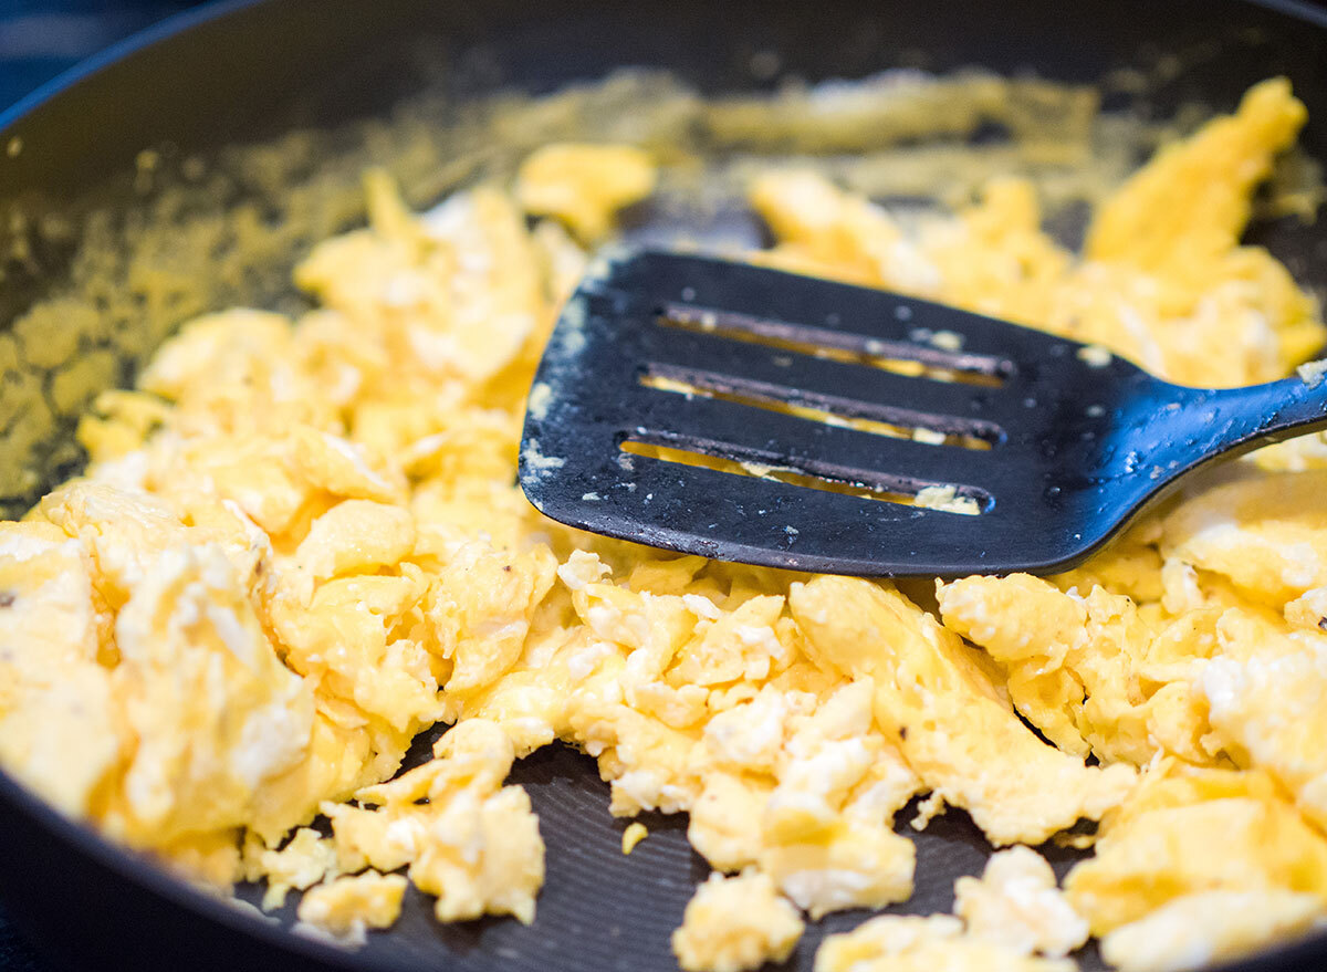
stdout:
POLYGON ((563 523, 722 560, 1050 572, 1198 466, 1327 428, 1300 373, 1184 388, 897 293, 617 251, 548 343, 520 482, 563 523))

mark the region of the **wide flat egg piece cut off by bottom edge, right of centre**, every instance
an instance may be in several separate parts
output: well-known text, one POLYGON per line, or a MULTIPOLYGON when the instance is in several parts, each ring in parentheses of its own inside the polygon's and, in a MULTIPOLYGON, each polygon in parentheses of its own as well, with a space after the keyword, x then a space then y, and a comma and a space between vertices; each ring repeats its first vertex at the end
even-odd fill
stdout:
POLYGON ((1068 959, 1040 959, 963 933, 950 915, 881 915, 851 932, 829 935, 816 952, 816 972, 1074 972, 1068 959))

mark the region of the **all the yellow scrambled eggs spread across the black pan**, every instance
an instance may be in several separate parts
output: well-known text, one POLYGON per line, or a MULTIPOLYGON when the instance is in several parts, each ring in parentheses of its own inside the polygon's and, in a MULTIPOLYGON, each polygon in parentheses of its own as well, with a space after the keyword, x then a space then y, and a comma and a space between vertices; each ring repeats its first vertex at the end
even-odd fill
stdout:
MULTIPOLYGON (((1285 81, 1255 86, 1101 204, 1082 255, 1016 179, 905 227, 764 171, 776 243, 752 259, 1176 381, 1281 377, 1327 328, 1239 236, 1303 121, 1285 81)), ((905 902, 894 817, 918 795, 914 826, 954 806, 993 845, 1095 855, 1062 892, 1001 851, 955 915, 873 918, 817 972, 1060 972, 1089 930, 1161 972, 1320 922, 1327 447, 1263 451, 1076 571, 937 584, 933 607, 544 521, 514 485, 531 374, 583 246, 656 178, 636 147, 551 145, 514 189, 414 214, 370 174, 369 226, 296 272, 318 309, 199 317, 102 394, 86 475, 0 525, 7 770, 195 880, 303 891, 299 927, 352 943, 407 880, 442 922, 533 920, 544 846, 504 779, 555 740, 598 761, 613 814, 689 813, 715 868, 673 939, 689 971, 787 957, 802 912, 905 902), (1083 819, 1095 837, 1063 833, 1083 819)))

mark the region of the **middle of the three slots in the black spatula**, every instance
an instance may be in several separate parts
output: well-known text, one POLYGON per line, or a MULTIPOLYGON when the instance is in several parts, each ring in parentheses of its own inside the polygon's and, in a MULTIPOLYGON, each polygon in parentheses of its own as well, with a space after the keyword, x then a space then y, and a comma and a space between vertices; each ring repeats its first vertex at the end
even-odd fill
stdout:
POLYGON ((986 451, 1001 438, 998 426, 949 416, 925 416, 851 398, 829 398, 804 390, 731 374, 693 368, 652 364, 640 384, 657 392, 701 396, 763 409, 824 425, 837 425, 889 438, 905 438, 924 445, 947 445, 986 451))

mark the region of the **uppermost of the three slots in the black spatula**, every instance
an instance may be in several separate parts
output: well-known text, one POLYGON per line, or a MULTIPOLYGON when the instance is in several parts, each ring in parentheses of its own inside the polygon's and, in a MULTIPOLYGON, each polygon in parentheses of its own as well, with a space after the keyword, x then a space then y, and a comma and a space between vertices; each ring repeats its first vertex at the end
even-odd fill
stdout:
POLYGON ((999 388, 1013 372, 1010 361, 965 353, 962 337, 951 332, 917 331, 917 343, 890 341, 690 304, 665 304, 656 320, 664 327, 932 381, 999 388))

